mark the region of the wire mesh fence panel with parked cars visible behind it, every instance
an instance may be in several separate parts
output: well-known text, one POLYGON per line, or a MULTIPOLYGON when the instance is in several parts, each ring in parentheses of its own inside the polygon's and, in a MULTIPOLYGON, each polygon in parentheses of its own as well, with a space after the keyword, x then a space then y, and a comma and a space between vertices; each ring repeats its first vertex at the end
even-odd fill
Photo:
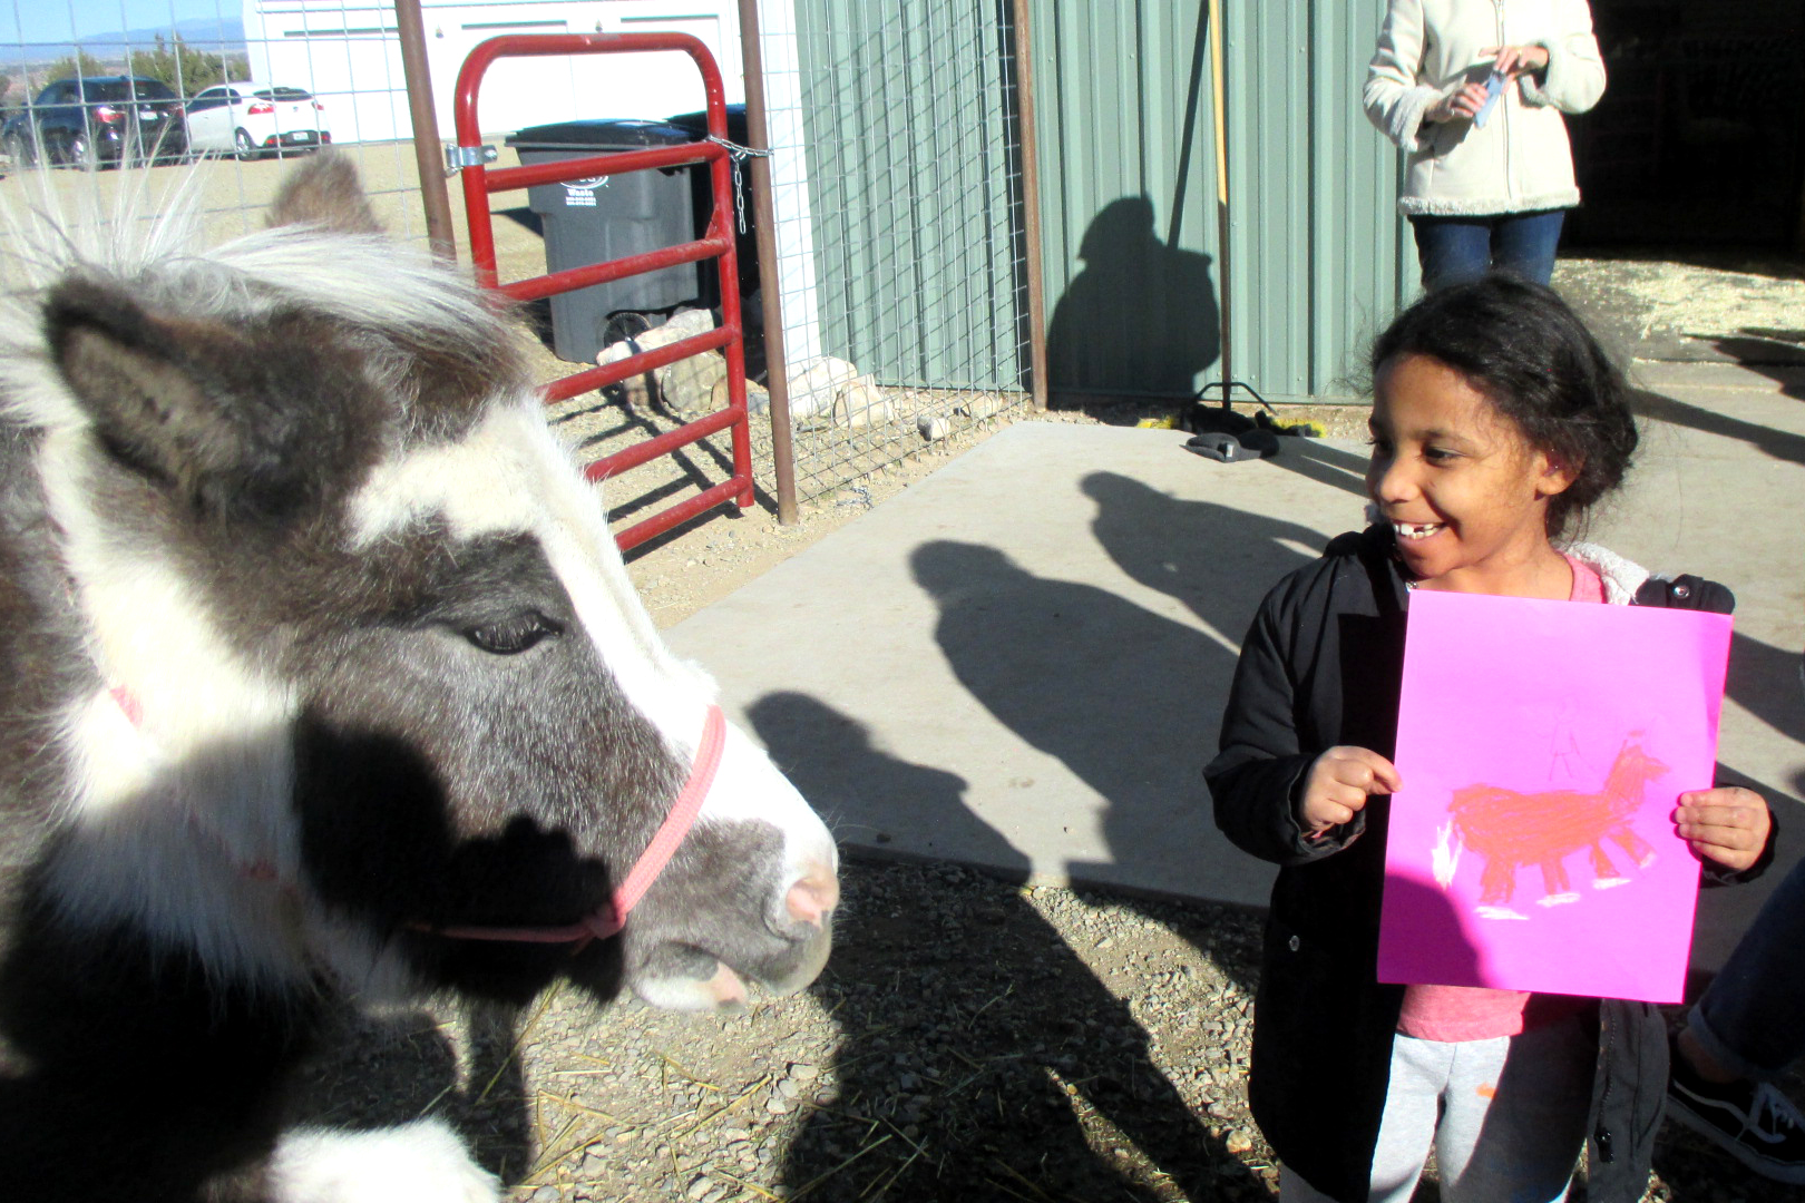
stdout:
POLYGON ((180 204, 262 225, 282 161, 336 144, 390 233, 424 240, 393 9, 343 0, 14 0, 0 9, 0 191, 60 213, 180 204), (116 173, 114 168, 150 168, 116 173), (69 168, 88 168, 70 171, 69 168), (179 200, 177 200, 179 197, 179 200))

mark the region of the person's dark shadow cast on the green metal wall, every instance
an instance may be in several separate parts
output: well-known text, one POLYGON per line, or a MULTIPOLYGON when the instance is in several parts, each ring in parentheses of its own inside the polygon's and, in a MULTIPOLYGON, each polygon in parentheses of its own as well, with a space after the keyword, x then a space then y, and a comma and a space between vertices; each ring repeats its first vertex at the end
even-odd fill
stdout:
POLYGON ((1222 354, 1209 256, 1161 242, 1153 202, 1103 206, 1078 245, 1047 323, 1047 377, 1058 393, 1193 397, 1222 354))

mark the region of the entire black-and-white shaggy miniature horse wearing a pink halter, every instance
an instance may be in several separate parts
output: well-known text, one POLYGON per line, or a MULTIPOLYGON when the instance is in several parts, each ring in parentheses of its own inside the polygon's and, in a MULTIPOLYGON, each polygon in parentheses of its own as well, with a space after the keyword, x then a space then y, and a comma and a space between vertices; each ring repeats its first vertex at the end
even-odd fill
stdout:
POLYGON ((0 303, 0 1198, 493 1199, 437 1120, 285 1129, 329 1010, 798 990, 832 839, 345 161, 211 253, 130 229, 0 303))

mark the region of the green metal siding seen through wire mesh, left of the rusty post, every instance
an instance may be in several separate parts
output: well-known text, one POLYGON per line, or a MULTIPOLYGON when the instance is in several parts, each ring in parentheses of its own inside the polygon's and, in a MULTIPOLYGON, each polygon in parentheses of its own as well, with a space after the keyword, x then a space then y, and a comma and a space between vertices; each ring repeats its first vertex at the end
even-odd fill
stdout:
POLYGON ((996 0, 796 0, 823 348, 883 384, 1022 388, 996 0))

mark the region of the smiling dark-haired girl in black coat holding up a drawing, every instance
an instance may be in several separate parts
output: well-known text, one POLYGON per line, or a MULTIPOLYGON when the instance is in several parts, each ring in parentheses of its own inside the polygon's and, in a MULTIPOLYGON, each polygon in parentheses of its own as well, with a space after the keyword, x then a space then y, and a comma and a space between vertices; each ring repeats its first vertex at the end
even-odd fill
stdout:
MULTIPOLYGON (((1588 1138, 1588 1198, 1634 1203, 1666 1080, 1652 1006, 1375 978, 1404 611, 1412 590, 1718 611, 1733 599, 1565 541, 1623 482, 1637 435, 1623 375, 1549 289, 1487 276, 1431 292, 1379 337, 1372 370, 1375 521, 1262 602, 1204 770, 1222 831, 1283 866, 1254 1118, 1285 1203, 1402 1203, 1431 1147, 1444 1203, 1561 1199, 1588 1138)), ((1751 790, 1680 794, 1673 822, 1708 880, 1773 855, 1751 790)))

